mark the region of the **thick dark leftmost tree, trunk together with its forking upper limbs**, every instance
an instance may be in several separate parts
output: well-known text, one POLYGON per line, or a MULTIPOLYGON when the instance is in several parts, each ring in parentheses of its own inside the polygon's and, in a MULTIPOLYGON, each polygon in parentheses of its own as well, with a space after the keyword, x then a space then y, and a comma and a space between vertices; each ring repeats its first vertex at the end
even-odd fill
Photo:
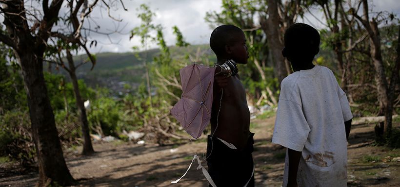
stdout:
POLYGON ((0 34, 0 40, 12 47, 20 64, 23 82, 27 93, 31 132, 36 146, 39 168, 37 186, 75 184, 63 157, 60 139, 54 120, 53 109, 47 95, 43 76, 42 56, 46 49, 46 35, 58 16, 62 0, 45 5, 43 20, 38 35, 32 36, 26 21, 23 0, 3 2, 4 25, 7 35, 0 34))

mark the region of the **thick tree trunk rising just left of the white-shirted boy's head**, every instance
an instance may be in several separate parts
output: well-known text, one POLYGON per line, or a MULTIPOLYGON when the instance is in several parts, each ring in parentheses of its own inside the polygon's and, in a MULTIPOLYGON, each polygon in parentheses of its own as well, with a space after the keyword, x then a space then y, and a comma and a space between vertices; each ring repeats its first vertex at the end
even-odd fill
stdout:
POLYGON ((272 60, 274 64, 275 76, 278 78, 278 82, 288 75, 288 71, 285 65, 285 58, 282 56, 281 50, 283 49, 283 41, 279 32, 279 14, 278 14, 278 1, 268 0, 268 18, 261 18, 260 24, 264 33, 268 38, 268 46, 270 46, 272 52, 272 60))

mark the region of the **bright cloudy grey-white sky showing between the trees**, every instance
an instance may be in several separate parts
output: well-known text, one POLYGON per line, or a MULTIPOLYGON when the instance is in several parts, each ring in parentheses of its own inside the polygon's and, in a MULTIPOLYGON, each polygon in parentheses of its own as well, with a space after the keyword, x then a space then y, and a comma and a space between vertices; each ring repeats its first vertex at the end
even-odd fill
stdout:
MULTIPOLYGON (((25 2, 35 2, 32 0, 26 0, 25 2)), ((353 0, 354 1, 354 0, 353 0)), ((369 0, 370 8, 373 11, 385 10, 393 12, 396 15, 400 15, 400 3, 399 0, 369 0), (372 3, 372 4, 371 4, 372 3)), ((107 16, 107 11, 104 6, 101 10, 97 7, 91 17, 91 25, 96 22, 100 26, 100 30, 103 33, 111 33, 112 31, 118 30, 119 33, 110 35, 95 34, 91 33, 91 39, 98 41, 97 47, 90 48, 93 53, 98 52, 129 52, 133 51, 133 46, 140 46, 138 37, 134 37, 129 40, 129 32, 132 28, 140 25, 140 19, 137 18, 139 13, 137 8, 140 4, 147 4, 150 9, 156 14, 154 18, 154 24, 161 24, 164 28, 164 38, 167 45, 174 45, 175 36, 172 33, 172 27, 178 26, 182 32, 184 38, 190 44, 206 44, 208 43, 209 35, 212 32, 209 24, 204 21, 206 12, 221 10, 221 0, 123 0, 125 7, 128 11, 124 11, 116 0, 111 10, 113 17, 122 19, 122 22, 118 23, 107 16)), ((99 2, 101 4, 101 2, 99 2)), ((35 6, 35 5, 33 5, 35 6)), ((68 10, 64 7, 61 10, 67 12, 68 10)), ((318 9, 312 10, 313 15, 322 18, 322 13, 318 9)), ((317 27, 318 29, 324 26, 316 21, 316 19, 306 14, 306 18, 299 19, 298 22, 305 22, 317 27)), ((3 17, 0 16, 2 22, 3 17)), ((323 18, 322 18, 323 19, 323 18)), ((86 25, 87 26, 87 25, 86 25)), ((155 44, 150 44, 149 48, 156 47, 155 44)))

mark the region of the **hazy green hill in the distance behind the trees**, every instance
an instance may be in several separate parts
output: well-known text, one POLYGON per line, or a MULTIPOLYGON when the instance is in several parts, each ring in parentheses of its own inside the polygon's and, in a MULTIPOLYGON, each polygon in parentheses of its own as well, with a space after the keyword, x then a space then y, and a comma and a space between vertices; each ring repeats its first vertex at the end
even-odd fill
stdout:
MULTIPOLYGON (((189 55, 194 58, 198 49, 202 52, 200 56, 205 57, 209 61, 215 60, 215 55, 211 49, 209 49, 208 45, 194 45, 184 48, 170 47, 170 53, 172 58, 187 57, 189 55)), ((131 87, 136 88, 144 82, 145 56, 147 55, 147 62, 151 64, 154 57, 159 54, 159 49, 148 50, 147 54, 145 51, 139 53, 98 53, 96 54, 96 65, 93 70, 90 70, 92 65, 88 62, 77 69, 77 76, 79 79, 83 79, 88 86, 107 87, 110 91, 115 93, 123 92, 124 85, 130 85, 131 87), (139 56, 139 58, 137 56, 139 56)), ((86 59, 87 55, 74 56, 76 64, 79 64, 86 59)), ((69 78, 64 70, 61 69, 60 73, 69 78)))

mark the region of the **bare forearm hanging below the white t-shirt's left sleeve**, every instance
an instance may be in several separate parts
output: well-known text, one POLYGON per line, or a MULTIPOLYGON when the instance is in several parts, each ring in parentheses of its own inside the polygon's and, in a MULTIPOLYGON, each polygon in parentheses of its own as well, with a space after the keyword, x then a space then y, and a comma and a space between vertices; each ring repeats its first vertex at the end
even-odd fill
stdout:
POLYGON ((297 185, 297 170, 299 169, 299 162, 301 157, 301 152, 295 151, 287 148, 288 150, 288 166, 289 166, 289 177, 286 187, 298 187, 297 185))

